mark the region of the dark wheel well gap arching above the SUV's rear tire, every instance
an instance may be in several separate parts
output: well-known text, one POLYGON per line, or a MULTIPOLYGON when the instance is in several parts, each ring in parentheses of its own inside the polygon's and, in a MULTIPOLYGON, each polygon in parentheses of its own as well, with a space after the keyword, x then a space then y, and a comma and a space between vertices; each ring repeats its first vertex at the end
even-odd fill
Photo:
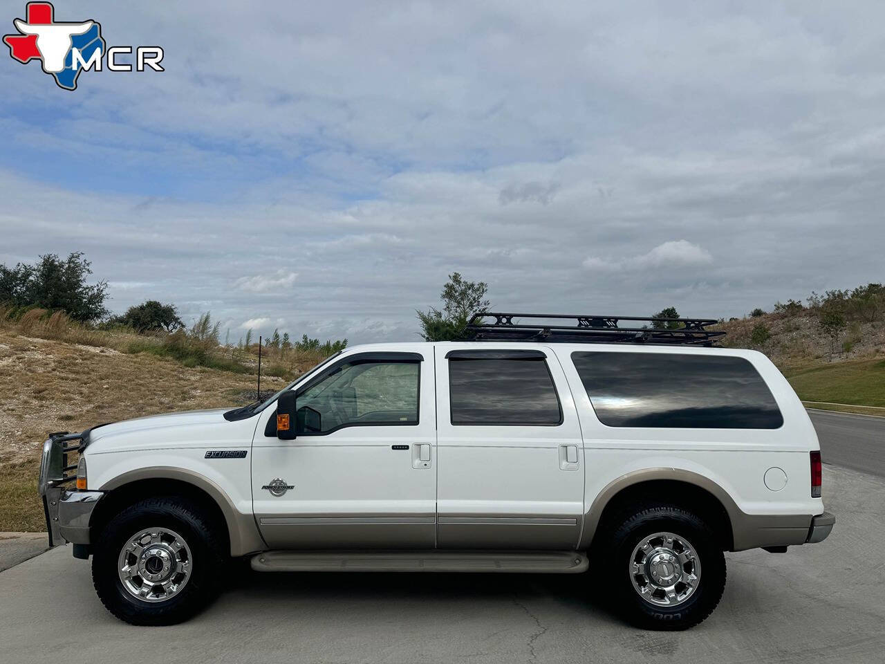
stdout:
POLYGON ((594 534, 597 537, 606 531, 616 528, 624 513, 637 505, 676 505, 696 513, 720 537, 720 545, 724 551, 734 546, 731 519, 719 498, 710 491, 679 480, 649 480, 631 484, 620 490, 608 501, 599 518, 594 534))

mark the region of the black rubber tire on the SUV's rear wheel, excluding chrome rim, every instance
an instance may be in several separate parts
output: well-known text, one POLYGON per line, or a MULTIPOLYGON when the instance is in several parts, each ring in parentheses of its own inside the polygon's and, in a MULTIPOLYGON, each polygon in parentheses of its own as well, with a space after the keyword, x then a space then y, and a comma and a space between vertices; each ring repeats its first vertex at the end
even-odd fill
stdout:
POLYGON ((612 519, 596 542, 596 555, 610 570, 606 583, 620 614, 643 629, 688 629, 703 622, 720 602, 726 583, 726 563, 720 537, 696 513, 676 505, 633 506, 612 519), (635 590, 631 555, 644 537, 669 532, 685 537, 700 560, 696 590, 677 606, 656 606, 635 590))

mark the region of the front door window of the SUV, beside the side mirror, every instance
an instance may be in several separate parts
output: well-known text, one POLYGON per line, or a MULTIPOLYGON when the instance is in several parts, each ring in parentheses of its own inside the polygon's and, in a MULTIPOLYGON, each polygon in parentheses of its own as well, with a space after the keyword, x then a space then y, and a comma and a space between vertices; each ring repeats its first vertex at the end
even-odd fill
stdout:
POLYGON ((344 363, 298 395, 296 432, 418 424, 418 385, 417 362, 344 363))

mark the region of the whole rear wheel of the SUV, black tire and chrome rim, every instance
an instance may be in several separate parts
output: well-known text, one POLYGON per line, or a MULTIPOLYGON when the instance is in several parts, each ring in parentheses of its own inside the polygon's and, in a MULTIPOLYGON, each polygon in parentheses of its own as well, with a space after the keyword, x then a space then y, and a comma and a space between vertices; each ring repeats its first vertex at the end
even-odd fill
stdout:
POLYGON ((603 553, 610 590, 627 620, 645 629, 687 629, 712 614, 725 590, 719 539, 678 506, 622 516, 603 553))

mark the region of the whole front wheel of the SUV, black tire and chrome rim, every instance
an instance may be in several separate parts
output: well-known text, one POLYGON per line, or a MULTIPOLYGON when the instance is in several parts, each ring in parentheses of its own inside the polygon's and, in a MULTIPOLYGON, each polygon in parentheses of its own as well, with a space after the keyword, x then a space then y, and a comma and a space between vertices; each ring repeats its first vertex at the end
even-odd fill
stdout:
POLYGON ((171 625, 214 596, 223 575, 217 526, 182 498, 146 498, 115 516, 98 537, 92 580, 120 620, 171 625))

